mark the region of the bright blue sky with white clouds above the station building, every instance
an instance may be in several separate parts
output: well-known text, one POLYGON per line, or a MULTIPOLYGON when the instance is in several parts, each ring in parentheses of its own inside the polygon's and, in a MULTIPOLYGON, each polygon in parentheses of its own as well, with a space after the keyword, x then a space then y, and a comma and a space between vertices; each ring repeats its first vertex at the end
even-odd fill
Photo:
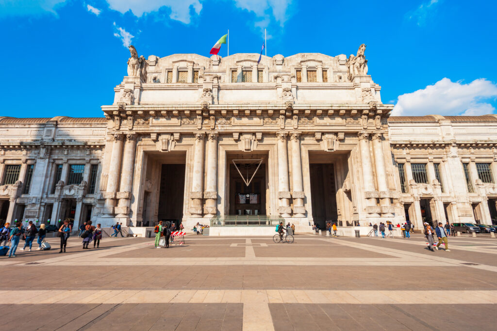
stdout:
MULTIPOLYGON (((230 29, 230 53, 355 54, 395 115, 482 115, 497 107, 488 0, 0 0, 0 116, 102 116, 139 55, 197 53, 230 29)), ((226 55, 223 46, 221 56, 226 55)))

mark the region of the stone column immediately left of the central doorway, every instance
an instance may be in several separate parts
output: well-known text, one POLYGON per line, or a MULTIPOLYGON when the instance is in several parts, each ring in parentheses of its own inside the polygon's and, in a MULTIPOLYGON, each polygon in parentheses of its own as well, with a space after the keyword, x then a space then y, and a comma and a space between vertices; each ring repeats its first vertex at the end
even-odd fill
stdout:
POLYGON ((214 217, 217 214, 217 148, 218 134, 210 132, 207 140, 207 182, 205 186, 204 199, 204 214, 206 217, 214 217))

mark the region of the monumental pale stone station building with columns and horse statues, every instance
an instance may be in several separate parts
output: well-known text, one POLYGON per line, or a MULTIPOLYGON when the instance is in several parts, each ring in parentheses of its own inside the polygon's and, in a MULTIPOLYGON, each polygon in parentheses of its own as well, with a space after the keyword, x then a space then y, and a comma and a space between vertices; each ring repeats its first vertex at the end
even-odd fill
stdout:
POLYGON ((381 102, 364 50, 257 64, 258 54, 145 60, 130 48, 129 75, 102 106, 105 118, 0 118, 0 218, 103 226, 161 218, 188 228, 246 213, 310 229, 406 217, 420 226, 447 210, 454 221, 489 223, 497 190, 476 167, 496 171, 497 119, 389 119, 393 105, 381 102), (425 164, 426 183, 415 183, 414 162, 425 164))

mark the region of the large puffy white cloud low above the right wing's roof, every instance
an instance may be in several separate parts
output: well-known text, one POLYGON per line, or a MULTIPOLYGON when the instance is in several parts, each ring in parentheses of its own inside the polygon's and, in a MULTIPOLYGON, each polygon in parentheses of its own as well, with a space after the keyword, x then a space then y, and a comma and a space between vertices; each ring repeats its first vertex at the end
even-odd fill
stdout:
POLYGON ((486 102, 497 98, 497 84, 475 79, 469 84, 442 78, 426 88, 400 95, 393 116, 484 115, 492 114, 494 106, 486 102))

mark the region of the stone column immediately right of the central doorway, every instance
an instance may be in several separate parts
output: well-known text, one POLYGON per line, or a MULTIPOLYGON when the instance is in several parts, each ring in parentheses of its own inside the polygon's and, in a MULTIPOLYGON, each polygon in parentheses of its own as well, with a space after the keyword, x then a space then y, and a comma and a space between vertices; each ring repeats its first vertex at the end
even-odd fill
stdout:
POLYGON ((278 212, 281 217, 290 217, 292 208, 290 207, 290 185, 288 182, 288 152, 286 149, 286 132, 276 133, 278 136, 278 199, 280 205, 278 212))

